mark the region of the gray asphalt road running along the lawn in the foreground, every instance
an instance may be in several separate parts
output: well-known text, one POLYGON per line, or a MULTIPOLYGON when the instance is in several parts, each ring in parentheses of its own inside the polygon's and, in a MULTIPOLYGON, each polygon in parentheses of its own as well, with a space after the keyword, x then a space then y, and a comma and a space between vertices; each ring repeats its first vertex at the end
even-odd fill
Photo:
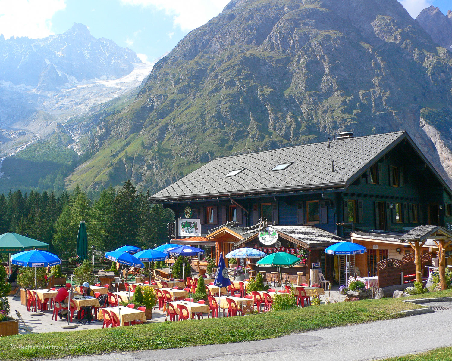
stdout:
MULTIPOLYGON (((446 306, 443 302, 442 305, 446 306)), ((447 306, 451 306, 447 304, 447 306)), ((452 346, 452 310, 324 329, 263 341, 114 353, 72 361, 378 360, 452 346)), ((67 360, 67 358, 65 359, 67 360)))

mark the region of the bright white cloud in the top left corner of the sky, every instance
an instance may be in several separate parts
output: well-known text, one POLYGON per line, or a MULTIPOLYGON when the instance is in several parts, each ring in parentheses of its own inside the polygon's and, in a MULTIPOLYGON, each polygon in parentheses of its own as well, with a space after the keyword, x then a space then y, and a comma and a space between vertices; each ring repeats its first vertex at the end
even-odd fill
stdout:
POLYGON ((5 38, 47 37, 53 34, 53 15, 65 8, 65 0, 0 0, 0 33, 5 38))

